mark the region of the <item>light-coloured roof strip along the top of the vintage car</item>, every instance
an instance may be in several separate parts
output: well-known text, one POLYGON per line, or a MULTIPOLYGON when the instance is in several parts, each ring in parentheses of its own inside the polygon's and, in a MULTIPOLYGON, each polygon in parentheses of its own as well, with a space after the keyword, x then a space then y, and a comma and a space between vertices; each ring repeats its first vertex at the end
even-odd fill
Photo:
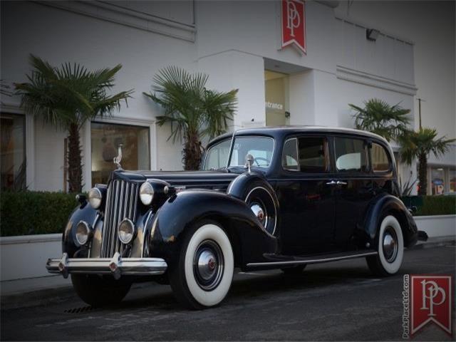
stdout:
POLYGON ((239 130, 235 130, 234 133, 225 133, 223 135, 219 135, 219 137, 215 138, 209 145, 212 143, 217 142, 219 140, 224 140, 226 138, 234 136, 242 136, 242 135, 269 135, 273 138, 280 139, 284 138, 286 135, 294 135, 299 133, 342 133, 342 134, 349 134, 349 135, 358 135, 365 138, 374 138, 376 140, 381 140, 388 145, 388 142, 385 138, 377 135, 375 133, 367 132, 365 130, 355 130, 353 128, 340 128, 340 127, 326 127, 326 126, 310 126, 310 125, 302 125, 302 126, 279 126, 279 127, 260 127, 260 128, 242 128, 239 130))

